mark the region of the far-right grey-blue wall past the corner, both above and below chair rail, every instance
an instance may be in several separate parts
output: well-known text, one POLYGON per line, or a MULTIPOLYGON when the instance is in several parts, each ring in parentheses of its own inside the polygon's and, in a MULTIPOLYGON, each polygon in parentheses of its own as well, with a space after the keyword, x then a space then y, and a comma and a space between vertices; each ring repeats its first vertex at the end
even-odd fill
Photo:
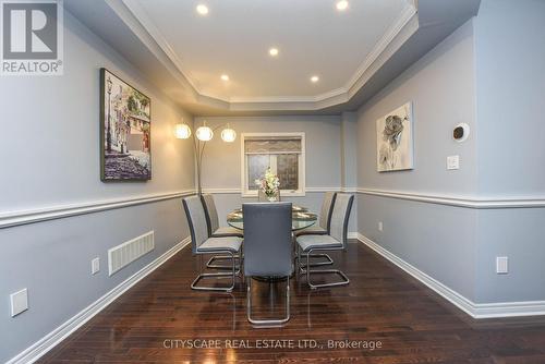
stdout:
MULTIPOLYGON (((545 195, 545 1, 483 1, 475 21, 479 193, 545 195)), ((545 300, 545 209, 481 210, 477 301, 545 300), (510 274, 488 269, 508 256, 510 274)))

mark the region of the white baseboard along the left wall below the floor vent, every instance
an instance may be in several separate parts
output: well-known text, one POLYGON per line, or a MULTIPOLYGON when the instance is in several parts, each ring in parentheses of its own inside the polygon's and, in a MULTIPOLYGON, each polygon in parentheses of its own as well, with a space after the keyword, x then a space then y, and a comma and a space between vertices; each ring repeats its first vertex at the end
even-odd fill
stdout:
POLYGON ((34 363, 191 242, 187 236, 5 364, 34 363))

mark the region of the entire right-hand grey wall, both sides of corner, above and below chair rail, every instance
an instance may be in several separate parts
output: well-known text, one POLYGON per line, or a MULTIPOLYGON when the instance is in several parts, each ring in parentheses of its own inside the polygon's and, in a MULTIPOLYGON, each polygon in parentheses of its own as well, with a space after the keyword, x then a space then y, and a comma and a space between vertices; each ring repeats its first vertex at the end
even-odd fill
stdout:
MULTIPOLYGON (((545 2, 483 0, 464 24, 360 109, 359 187, 543 199, 545 2), (415 169, 377 173, 375 120, 414 104, 415 169), (457 144, 451 128, 467 122, 457 144), (459 171, 447 171, 448 155, 459 171)), ((545 300, 544 208, 470 209, 360 194, 359 231, 475 303, 545 300), (384 221, 384 232, 377 231, 384 221), (509 274, 497 275, 497 256, 509 274)))

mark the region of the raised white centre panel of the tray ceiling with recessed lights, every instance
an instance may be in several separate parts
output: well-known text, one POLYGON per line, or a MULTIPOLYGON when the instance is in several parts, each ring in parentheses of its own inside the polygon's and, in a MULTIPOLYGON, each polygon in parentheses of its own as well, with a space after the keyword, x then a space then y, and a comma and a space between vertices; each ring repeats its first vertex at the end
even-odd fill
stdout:
POLYGON ((234 102, 341 94, 415 12, 407 0, 123 2, 198 94, 234 102))

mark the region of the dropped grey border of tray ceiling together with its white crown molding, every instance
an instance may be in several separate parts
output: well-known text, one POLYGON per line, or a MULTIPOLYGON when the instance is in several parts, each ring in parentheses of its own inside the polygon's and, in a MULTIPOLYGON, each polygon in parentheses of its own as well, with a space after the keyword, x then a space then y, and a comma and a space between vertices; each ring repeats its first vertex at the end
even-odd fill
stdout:
MULTIPOLYGON (((167 97, 194 116, 339 114, 354 111, 479 12, 481 0, 407 0, 344 85, 319 95, 218 97, 199 88, 136 0, 64 0, 64 9, 167 97), (431 26, 431 24, 435 24, 431 26)), ((181 59, 180 59, 181 58, 181 59)))

